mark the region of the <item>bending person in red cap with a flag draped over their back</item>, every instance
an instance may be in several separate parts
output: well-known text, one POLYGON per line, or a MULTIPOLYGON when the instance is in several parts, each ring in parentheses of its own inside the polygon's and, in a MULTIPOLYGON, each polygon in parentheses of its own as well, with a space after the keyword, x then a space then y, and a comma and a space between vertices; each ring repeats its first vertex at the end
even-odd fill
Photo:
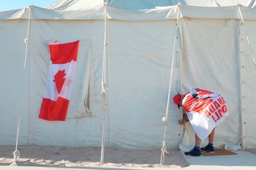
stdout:
POLYGON ((184 108, 186 114, 179 120, 180 125, 190 122, 195 130, 195 147, 185 155, 198 157, 201 152, 214 153, 213 140, 215 127, 228 115, 227 105, 223 97, 208 90, 191 88, 186 94, 176 94, 173 102, 178 108, 184 108), (200 148, 201 141, 205 138, 209 143, 200 148))

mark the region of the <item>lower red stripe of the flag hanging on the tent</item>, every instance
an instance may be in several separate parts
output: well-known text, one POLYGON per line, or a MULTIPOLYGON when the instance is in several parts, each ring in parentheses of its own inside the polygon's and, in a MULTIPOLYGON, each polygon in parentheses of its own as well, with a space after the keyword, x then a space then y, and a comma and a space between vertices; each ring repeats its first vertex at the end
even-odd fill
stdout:
POLYGON ((58 97, 57 101, 43 98, 39 118, 45 120, 65 121, 69 101, 63 97, 58 97))

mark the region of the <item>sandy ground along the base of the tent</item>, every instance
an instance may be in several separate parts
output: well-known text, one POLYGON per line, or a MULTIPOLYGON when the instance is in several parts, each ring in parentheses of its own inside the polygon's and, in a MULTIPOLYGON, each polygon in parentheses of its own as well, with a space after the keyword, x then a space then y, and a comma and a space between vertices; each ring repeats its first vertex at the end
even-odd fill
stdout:
MULTIPOLYGON (((13 162, 15 146, 0 146, 0 166, 13 162)), ((159 165, 161 150, 125 150, 105 148, 104 164, 100 164, 100 147, 19 146, 18 166, 47 167, 188 167, 179 150, 168 150, 164 165, 159 165)))

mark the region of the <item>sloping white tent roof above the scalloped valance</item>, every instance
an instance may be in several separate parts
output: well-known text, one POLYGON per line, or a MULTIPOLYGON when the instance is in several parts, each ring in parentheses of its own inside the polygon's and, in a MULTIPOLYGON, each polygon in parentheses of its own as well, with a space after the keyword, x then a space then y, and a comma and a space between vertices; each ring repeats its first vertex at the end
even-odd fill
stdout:
MULTIPOLYGON (((45 8, 51 10, 86 10, 97 6, 102 6, 107 0, 65 0, 58 3, 53 3, 45 8)), ((149 10, 163 6, 175 6, 178 3, 184 6, 236 6, 237 3, 242 6, 253 8, 256 5, 255 0, 108 0, 110 6, 125 10, 149 10)))

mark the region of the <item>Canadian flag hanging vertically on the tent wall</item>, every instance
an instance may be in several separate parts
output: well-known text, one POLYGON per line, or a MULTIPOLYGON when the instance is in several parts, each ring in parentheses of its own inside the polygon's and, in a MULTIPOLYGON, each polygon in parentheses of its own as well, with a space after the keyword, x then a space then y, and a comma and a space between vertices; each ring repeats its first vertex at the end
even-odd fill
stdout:
POLYGON ((39 118, 65 121, 76 71, 79 40, 51 41, 51 60, 39 118))

